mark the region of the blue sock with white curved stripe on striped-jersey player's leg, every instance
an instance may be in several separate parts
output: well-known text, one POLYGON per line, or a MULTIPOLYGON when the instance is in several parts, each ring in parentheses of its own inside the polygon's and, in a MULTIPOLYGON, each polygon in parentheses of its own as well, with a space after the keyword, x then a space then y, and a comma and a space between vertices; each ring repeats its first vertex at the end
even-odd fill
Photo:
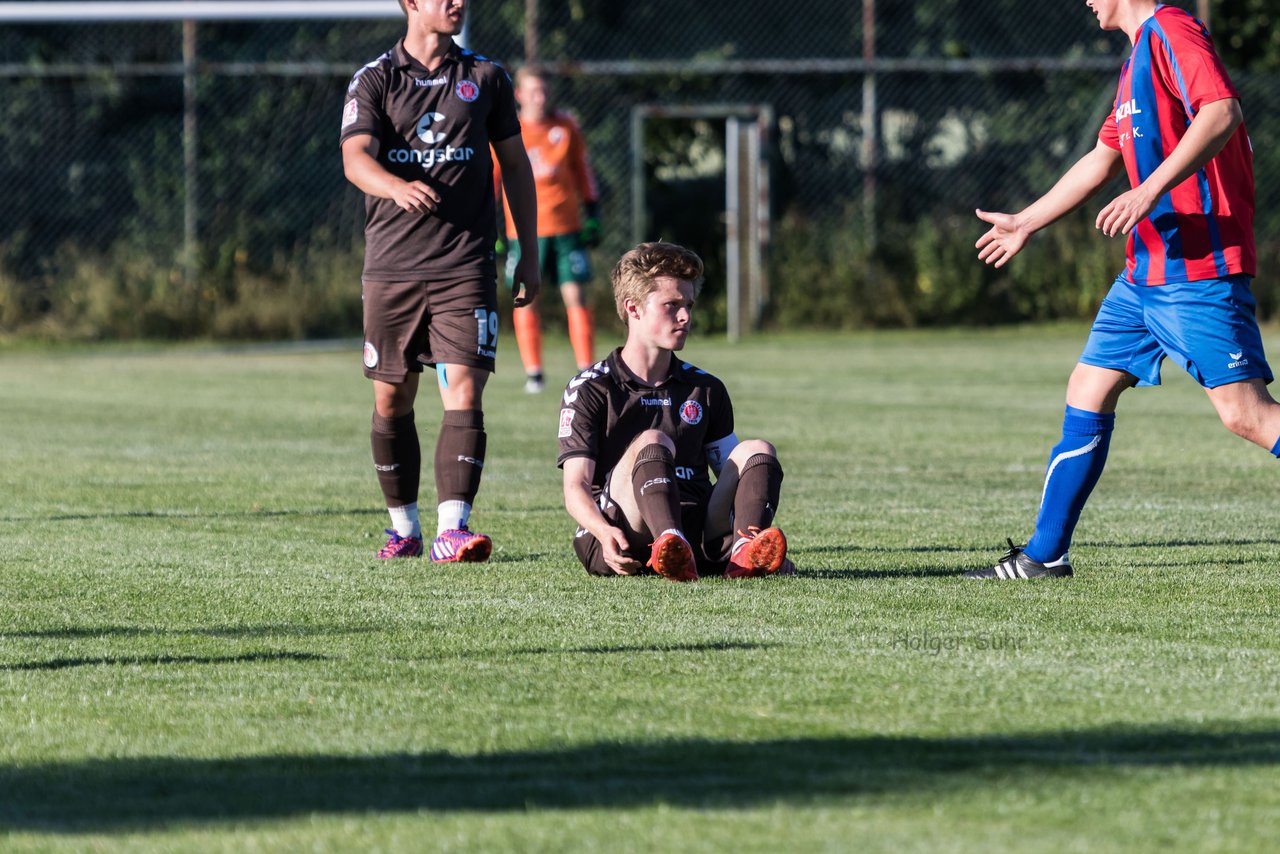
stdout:
POLYGON ((1066 407, 1062 439, 1050 455, 1036 534, 1027 543, 1027 557, 1050 563, 1066 554, 1084 502, 1102 476, 1115 423, 1115 412, 1102 415, 1066 407))

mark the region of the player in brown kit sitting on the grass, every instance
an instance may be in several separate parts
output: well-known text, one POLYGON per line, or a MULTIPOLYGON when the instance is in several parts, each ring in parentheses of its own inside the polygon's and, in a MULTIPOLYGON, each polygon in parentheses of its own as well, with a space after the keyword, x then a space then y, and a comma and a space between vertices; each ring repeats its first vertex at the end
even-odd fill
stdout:
POLYGON ((701 279, 701 259, 682 246, 641 243, 623 255, 613 300, 627 341, 564 389, 557 462, 579 524, 573 551, 591 575, 795 571, 786 536, 771 526, 777 451, 739 442, 724 384, 675 357, 701 279))

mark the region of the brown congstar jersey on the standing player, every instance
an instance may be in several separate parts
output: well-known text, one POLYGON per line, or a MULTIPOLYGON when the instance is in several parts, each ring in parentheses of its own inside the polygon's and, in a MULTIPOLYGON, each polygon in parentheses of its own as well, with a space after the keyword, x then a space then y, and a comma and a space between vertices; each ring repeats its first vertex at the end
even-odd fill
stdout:
POLYGON ((351 78, 339 141, 378 140, 378 161, 440 193, 431 214, 366 196, 365 273, 370 282, 493 277, 497 238, 492 142, 520 133, 511 78, 457 45, 435 69, 403 40, 351 78))

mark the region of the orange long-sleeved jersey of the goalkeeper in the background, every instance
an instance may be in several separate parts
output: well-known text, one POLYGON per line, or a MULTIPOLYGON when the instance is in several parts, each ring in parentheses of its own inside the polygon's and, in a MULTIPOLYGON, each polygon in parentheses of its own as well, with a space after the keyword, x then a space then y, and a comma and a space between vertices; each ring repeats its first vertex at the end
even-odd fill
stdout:
MULTIPOLYGON (((582 132, 570 115, 553 113, 541 122, 520 123, 529 165, 534 168, 538 187, 538 236, 556 237, 582 229, 579 209, 600 197, 595 173, 586 156, 582 132)), ((502 193, 502 172, 498 159, 493 159, 493 186, 502 193)), ((511 206, 503 205, 507 237, 516 238, 516 225, 511 222, 511 206)))

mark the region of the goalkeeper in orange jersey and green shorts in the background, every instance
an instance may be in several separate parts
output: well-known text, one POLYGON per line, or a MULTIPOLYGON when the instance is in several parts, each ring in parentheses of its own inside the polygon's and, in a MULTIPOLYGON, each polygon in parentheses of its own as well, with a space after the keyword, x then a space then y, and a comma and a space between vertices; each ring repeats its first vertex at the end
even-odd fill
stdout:
MULTIPOLYGON (((586 248, 600 237, 599 189, 586 155, 582 132, 568 114, 554 109, 547 79, 532 68, 516 72, 516 102, 520 125, 538 186, 538 252, 548 282, 559 284, 568 315, 568 339, 577 367, 589 367, 595 357, 595 324, 586 301, 591 265, 586 248), (584 216, 585 213, 585 216, 584 216)), ((494 178, 498 179, 497 160, 494 178)), ((495 181, 495 187, 502 187, 495 181)), ((508 206, 506 213, 507 278, 520 262, 520 245, 508 206)), ((525 391, 541 392, 543 334, 538 300, 513 312, 516 346, 525 365, 525 391)))

